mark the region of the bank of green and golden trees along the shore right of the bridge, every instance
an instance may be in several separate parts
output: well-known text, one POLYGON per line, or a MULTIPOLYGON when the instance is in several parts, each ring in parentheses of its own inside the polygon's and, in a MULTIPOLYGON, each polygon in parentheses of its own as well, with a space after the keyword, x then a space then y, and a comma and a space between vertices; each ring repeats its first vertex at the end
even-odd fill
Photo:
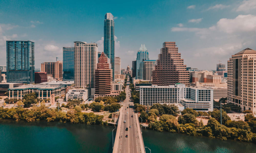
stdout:
POLYGON ((223 109, 220 115, 220 110, 207 113, 186 108, 179 115, 178 107, 175 105, 153 104, 147 114, 145 106, 135 104, 135 110, 141 112, 142 122, 148 123, 148 129, 256 144, 256 117, 253 114, 246 114, 245 121, 231 121, 223 109), (209 117, 207 125, 204 125, 202 120, 199 122, 197 116, 209 117))

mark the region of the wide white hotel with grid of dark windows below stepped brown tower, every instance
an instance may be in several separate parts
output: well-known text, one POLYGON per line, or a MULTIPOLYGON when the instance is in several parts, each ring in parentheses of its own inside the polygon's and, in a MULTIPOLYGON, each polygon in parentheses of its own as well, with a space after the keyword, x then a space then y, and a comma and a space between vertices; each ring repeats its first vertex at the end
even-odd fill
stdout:
POLYGON ((213 111, 213 89, 186 87, 181 83, 169 86, 140 86, 140 104, 151 106, 156 103, 180 103, 184 108, 213 111))

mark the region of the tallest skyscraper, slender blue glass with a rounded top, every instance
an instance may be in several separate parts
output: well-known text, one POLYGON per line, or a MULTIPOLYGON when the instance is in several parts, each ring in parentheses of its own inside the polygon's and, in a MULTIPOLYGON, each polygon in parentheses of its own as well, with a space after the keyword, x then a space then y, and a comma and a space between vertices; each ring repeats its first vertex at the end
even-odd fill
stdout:
POLYGON ((113 81, 115 79, 115 22, 111 13, 105 14, 104 20, 104 53, 110 58, 111 69, 113 71, 113 81))

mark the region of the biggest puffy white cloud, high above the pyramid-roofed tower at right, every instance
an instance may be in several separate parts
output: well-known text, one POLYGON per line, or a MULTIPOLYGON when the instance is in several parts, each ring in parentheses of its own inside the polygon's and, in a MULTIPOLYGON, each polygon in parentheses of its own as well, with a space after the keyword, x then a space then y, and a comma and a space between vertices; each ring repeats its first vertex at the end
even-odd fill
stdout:
POLYGON ((239 15, 235 19, 223 18, 217 22, 217 28, 225 33, 256 32, 256 16, 239 15))

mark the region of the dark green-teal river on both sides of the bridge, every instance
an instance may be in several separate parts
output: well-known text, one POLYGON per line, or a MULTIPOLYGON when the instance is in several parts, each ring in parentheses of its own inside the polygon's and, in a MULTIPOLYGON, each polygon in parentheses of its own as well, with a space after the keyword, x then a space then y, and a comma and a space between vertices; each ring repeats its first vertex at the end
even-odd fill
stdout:
MULTIPOLYGON (((112 130, 113 126, 0 120, 0 152, 111 153, 112 130)), ((234 140, 221 141, 147 129, 143 129, 142 135, 145 146, 152 153, 256 152, 255 144, 234 140)))

